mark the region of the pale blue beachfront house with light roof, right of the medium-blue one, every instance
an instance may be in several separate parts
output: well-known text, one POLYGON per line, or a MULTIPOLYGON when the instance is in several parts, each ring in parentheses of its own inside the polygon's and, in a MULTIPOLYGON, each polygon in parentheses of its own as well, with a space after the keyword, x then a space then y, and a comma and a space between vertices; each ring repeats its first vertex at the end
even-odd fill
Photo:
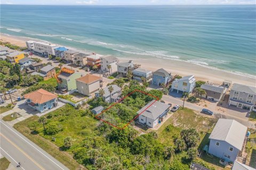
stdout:
POLYGON ((196 86, 196 79, 194 75, 188 75, 181 79, 175 79, 172 82, 171 91, 177 90, 177 93, 179 92, 190 92, 193 91, 193 89, 196 86))

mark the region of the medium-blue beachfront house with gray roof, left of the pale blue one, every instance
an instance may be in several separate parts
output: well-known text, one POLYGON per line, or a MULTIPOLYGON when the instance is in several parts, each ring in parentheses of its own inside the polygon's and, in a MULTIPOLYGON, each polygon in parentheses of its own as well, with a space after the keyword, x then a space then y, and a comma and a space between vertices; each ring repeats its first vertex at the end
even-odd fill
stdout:
POLYGON ((171 73, 168 73, 164 69, 158 69, 153 72, 152 84, 161 86, 162 83, 167 84, 171 80, 171 73))

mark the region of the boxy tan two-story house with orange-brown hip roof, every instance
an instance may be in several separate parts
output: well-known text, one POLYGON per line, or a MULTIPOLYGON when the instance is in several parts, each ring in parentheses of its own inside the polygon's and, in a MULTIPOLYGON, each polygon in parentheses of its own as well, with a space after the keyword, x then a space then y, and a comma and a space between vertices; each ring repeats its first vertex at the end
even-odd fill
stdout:
POLYGON ((96 75, 87 74, 76 79, 76 87, 80 94, 89 96, 102 87, 102 79, 96 75))

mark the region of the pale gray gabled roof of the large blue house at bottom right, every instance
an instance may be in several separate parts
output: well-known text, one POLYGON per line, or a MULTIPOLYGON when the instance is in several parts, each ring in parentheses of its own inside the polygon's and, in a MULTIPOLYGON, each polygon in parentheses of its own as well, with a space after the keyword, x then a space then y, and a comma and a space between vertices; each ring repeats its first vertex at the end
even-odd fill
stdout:
POLYGON ((242 150, 247 127, 235 120, 220 118, 209 139, 226 141, 235 148, 242 150))

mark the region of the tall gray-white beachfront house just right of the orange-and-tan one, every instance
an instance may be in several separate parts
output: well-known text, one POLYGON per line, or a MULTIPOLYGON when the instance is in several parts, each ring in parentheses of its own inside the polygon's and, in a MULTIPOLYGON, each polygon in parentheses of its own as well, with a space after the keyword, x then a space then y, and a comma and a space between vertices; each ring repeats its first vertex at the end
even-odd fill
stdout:
POLYGON ((117 72, 117 63, 119 63, 119 60, 113 56, 113 55, 105 55, 100 57, 101 60, 101 68, 100 70, 102 72, 110 72, 110 74, 117 72), (110 69, 108 69, 108 66, 111 66, 110 69))

